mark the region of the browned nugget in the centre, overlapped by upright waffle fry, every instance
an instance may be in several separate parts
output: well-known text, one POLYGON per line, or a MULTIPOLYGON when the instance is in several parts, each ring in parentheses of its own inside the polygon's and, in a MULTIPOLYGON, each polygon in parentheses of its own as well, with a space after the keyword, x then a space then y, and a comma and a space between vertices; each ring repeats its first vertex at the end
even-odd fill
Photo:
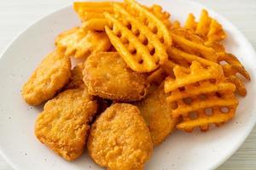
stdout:
POLYGON ((84 63, 83 75, 89 94, 103 99, 136 101, 148 94, 145 75, 131 71, 115 52, 90 55, 84 63))

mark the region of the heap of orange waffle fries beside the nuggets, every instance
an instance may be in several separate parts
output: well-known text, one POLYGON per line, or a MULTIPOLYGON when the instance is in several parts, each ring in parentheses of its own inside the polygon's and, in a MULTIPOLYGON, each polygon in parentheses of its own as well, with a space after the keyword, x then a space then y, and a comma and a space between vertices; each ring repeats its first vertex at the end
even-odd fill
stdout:
POLYGON ((241 77, 250 76, 235 55, 225 51, 226 32, 207 10, 198 21, 189 14, 184 26, 171 21, 158 5, 74 3, 84 31, 102 31, 126 64, 148 73, 148 81, 164 83, 172 116, 181 117, 178 129, 207 131, 236 113, 235 93, 245 96, 241 77), (238 76, 239 74, 239 76, 238 76))

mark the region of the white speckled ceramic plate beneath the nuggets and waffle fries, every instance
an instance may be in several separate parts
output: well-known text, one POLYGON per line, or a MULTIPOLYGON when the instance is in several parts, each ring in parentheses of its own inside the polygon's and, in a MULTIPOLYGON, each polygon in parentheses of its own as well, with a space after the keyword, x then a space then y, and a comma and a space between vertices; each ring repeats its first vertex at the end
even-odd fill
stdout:
MULTIPOLYGON (((140 1, 148 4, 148 1, 140 1)), ((198 16, 202 8, 187 0, 151 1, 172 13, 172 20, 184 21, 187 14, 198 16)), ((240 99, 236 117, 223 127, 207 133, 173 133, 154 149, 146 169, 213 169, 227 160, 247 138, 255 122, 256 111, 256 55, 252 45, 240 31, 219 14, 209 9, 228 33, 228 51, 236 54, 249 71, 252 81, 247 83, 247 97, 240 99)), ((0 62, 0 150, 15 169, 101 169, 85 153, 77 161, 64 161, 35 138, 34 122, 41 107, 26 105, 20 88, 38 63, 55 48, 55 37, 64 30, 79 26, 73 8, 61 8, 26 29, 3 53, 0 62)))

